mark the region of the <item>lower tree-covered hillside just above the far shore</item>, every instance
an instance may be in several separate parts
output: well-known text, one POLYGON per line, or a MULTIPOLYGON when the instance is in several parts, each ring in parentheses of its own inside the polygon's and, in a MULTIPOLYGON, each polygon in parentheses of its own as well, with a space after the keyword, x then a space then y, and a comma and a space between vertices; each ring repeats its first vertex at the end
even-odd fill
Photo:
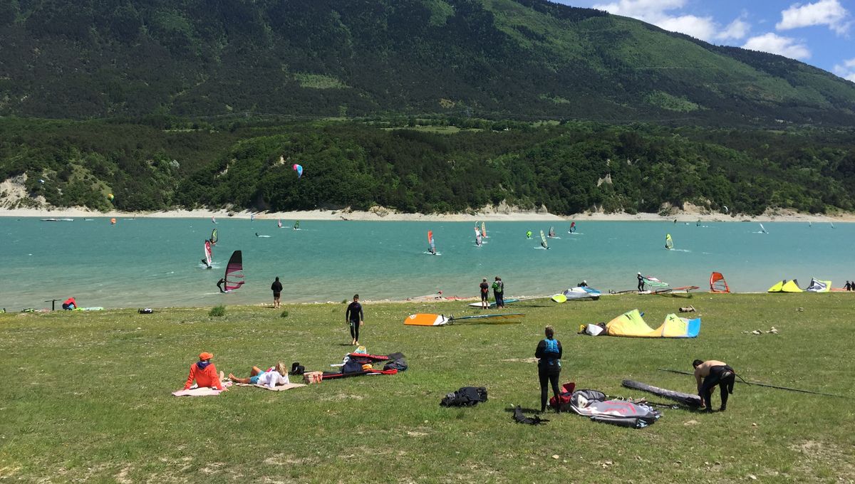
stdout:
POLYGON ((0 120, 0 179, 19 180, 28 194, 0 200, 130 211, 381 205, 421 213, 505 201, 559 214, 657 213, 686 201, 730 213, 823 213, 855 202, 852 131, 458 121, 463 130, 447 120, 416 127, 0 120), (294 163, 304 166, 302 178, 294 163))

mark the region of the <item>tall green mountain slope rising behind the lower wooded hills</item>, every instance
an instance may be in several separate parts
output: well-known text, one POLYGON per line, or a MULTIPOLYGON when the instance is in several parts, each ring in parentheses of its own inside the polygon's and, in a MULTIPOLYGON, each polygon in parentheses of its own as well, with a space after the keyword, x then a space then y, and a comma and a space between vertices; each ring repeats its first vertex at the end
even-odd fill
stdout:
POLYGON ((12 0, 0 38, 0 114, 855 123, 820 69, 545 0, 12 0))

